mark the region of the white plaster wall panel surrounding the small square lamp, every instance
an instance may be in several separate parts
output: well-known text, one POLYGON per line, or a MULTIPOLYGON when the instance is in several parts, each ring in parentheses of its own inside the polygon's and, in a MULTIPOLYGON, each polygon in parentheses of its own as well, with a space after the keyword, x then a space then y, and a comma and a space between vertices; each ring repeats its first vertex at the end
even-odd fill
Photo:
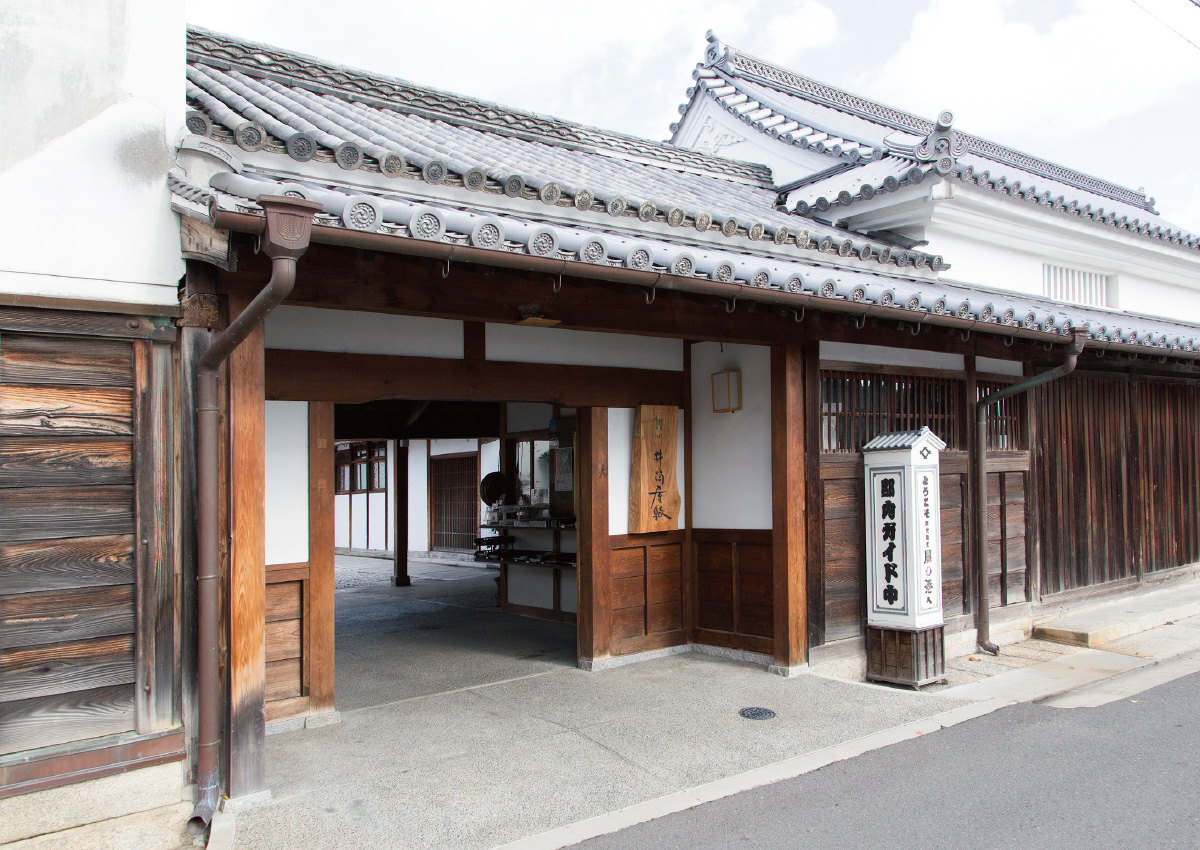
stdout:
POLYGON ((691 523, 770 528, 770 348, 691 348, 691 523), (713 413, 713 372, 742 371, 742 409, 713 413))

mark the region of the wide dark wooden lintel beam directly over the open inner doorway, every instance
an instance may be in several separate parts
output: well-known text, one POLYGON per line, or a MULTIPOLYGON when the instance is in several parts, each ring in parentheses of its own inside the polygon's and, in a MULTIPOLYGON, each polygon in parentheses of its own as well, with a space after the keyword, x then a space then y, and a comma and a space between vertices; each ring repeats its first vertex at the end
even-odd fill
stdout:
POLYGON ((649 369, 269 349, 266 397, 349 405, 377 399, 434 399, 550 401, 564 407, 682 407, 684 389, 683 372, 649 369))

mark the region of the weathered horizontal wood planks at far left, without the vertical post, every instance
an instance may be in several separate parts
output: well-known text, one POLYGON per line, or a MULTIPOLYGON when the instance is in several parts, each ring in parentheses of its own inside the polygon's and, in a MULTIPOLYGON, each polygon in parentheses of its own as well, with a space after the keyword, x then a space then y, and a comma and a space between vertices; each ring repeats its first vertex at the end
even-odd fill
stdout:
POLYGON ((0 753, 136 726, 136 345, 0 343, 0 753))

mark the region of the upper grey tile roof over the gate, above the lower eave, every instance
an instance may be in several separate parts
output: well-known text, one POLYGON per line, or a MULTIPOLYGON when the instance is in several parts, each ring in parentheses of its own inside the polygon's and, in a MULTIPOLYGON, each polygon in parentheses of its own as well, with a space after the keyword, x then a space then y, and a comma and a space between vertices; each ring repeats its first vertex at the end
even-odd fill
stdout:
MULTIPOLYGON (((322 64, 204 30, 188 32, 188 128, 293 162, 540 199, 607 219, 767 239, 882 264, 941 257, 775 209, 764 166, 731 162, 322 64)), ((600 223, 604 227, 605 225, 600 223)))

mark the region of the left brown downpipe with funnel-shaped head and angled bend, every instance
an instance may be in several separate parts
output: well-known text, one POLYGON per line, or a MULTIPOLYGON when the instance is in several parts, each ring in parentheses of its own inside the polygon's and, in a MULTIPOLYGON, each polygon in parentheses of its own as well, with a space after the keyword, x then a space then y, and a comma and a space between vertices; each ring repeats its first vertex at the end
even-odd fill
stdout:
POLYGON ((221 791, 217 747, 221 740, 218 666, 220 635, 220 502, 218 444, 221 429, 220 373, 234 349, 292 292, 296 259, 308 247, 312 216, 320 204, 300 198, 263 196, 265 211, 257 232, 265 232, 262 250, 271 258, 271 279, 250 305, 238 315, 200 357, 197 369, 196 467, 197 467, 197 800, 187 831, 202 834, 212 820, 221 791))

